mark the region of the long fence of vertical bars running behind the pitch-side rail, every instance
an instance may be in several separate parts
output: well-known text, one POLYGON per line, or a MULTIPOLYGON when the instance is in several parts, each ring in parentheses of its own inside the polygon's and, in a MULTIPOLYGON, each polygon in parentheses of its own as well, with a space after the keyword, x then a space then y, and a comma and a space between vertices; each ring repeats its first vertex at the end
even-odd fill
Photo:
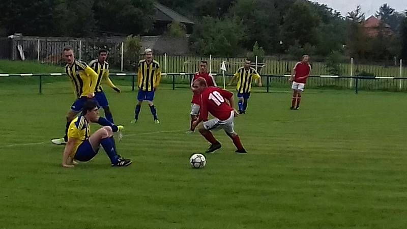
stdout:
MULTIPOLYGON (((63 38, 61 38, 63 39, 63 38)), ((0 59, 19 60, 17 46, 21 45, 27 60, 43 64, 63 65, 62 49, 66 45, 73 47, 76 58, 89 62, 97 58, 98 50, 106 48, 109 51, 109 64, 118 71, 135 72, 136 63, 126 60, 123 42, 111 42, 103 39, 25 39, 23 37, 0 39, 0 59)), ((143 56, 139 55, 138 59, 143 56)), ((225 62, 227 72, 233 74, 244 63, 245 58, 222 58, 195 55, 156 55, 154 58, 161 64, 163 72, 196 72, 200 60, 209 62, 209 71, 219 73, 222 62, 225 62)), ((327 65, 326 59, 313 60, 311 56, 312 75, 347 75, 347 76, 387 76, 407 77, 407 68, 403 67, 402 60, 394 61, 368 61, 341 60, 336 69, 327 65)), ((282 56, 268 56, 261 61, 252 60, 261 75, 290 74, 297 61, 287 60, 282 56)))

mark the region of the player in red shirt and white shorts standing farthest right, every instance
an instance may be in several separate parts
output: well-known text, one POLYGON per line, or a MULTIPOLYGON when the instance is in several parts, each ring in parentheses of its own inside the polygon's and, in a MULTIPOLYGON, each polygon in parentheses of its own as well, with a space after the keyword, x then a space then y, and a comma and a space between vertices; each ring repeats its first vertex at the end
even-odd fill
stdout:
POLYGON ((296 64, 288 80, 293 82, 291 89, 294 90, 290 109, 298 110, 300 108, 301 93, 304 91, 305 83, 310 74, 311 66, 309 65, 309 55, 303 55, 302 61, 296 64))

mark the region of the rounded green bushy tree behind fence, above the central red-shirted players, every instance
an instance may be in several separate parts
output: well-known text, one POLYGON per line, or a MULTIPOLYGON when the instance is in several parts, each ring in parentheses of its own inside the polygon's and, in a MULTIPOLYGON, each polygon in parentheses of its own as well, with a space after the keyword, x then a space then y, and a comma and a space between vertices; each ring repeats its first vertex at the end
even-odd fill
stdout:
POLYGON ((239 47, 246 39, 245 35, 241 21, 203 17, 194 27, 191 47, 201 55, 234 56, 241 52, 239 47))

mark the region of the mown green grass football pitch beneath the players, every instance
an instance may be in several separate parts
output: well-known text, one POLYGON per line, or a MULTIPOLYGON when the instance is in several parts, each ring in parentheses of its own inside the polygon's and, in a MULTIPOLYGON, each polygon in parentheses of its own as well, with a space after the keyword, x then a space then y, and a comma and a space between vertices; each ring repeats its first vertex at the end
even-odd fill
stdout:
MULTIPOLYGON (((405 228, 407 156, 404 93, 307 90, 300 110, 291 94, 253 93, 236 119, 247 155, 223 147, 193 169, 206 150, 186 135, 191 93, 163 84, 155 104, 133 118, 136 93, 107 89, 118 151, 134 163, 110 167, 103 150, 89 163, 61 167, 74 100, 67 81, 0 81, 0 228, 405 228)), ((120 83, 120 82, 119 82, 120 83)), ((92 126, 93 130, 98 128, 92 126)))

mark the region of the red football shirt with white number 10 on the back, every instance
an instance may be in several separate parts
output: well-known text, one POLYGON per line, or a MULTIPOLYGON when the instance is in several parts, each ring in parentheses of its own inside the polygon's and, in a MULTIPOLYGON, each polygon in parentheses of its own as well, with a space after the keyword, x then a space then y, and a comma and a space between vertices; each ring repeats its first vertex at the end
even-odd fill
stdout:
POLYGON ((208 113, 221 121, 230 117, 230 111, 234 110, 227 102, 233 93, 215 87, 209 87, 200 94, 200 118, 208 120, 208 113))

